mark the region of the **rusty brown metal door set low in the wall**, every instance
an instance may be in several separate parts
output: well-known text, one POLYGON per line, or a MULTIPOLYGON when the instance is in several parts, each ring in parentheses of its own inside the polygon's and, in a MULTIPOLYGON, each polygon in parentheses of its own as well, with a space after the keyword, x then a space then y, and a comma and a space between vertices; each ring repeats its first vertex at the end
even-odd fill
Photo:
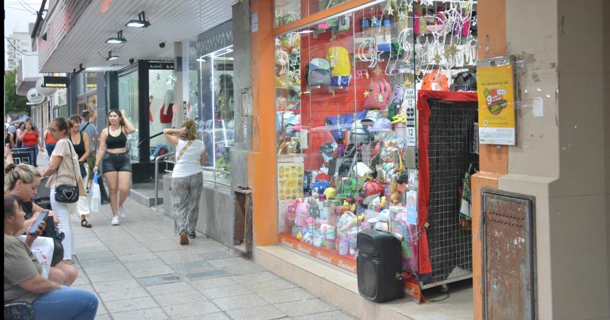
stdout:
POLYGON ((485 319, 536 319, 534 198, 482 190, 485 319))

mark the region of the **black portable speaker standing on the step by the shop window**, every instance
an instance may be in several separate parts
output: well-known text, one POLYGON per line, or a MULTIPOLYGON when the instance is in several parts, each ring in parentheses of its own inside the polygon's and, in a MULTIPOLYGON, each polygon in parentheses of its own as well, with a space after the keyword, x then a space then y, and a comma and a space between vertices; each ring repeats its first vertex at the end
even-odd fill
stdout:
POLYGON ((375 302, 403 296, 399 239, 387 232, 364 230, 357 235, 358 292, 375 302))

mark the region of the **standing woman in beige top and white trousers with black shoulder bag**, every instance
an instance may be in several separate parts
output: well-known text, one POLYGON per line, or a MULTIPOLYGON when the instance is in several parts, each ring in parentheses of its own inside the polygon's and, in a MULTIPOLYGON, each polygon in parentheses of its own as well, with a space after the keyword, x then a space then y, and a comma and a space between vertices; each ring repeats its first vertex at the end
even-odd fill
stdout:
POLYGON ((55 149, 49 160, 49 168, 40 171, 43 177, 49 177, 47 188, 50 189, 51 208, 60 218, 58 228, 65 234, 62 241, 64 246, 64 260, 71 260, 74 254, 74 234, 70 226, 70 214, 77 213, 76 203, 57 202, 55 199, 55 187, 57 185, 77 184, 79 195, 87 195, 79 174, 78 155, 70 142, 70 125, 64 118, 55 118, 49 125, 51 137, 57 140, 55 149))

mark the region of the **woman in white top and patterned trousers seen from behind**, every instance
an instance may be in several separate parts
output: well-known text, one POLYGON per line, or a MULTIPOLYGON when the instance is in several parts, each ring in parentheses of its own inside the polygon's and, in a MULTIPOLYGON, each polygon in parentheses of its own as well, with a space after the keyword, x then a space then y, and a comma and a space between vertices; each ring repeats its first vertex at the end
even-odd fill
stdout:
POLYGON ((163 135, 176 148, 172 200, 174 236, 179 236, 180 244, 189 244, 189 238, 195 238, 199 198, 204 187, 201 166, 206 163, 206 147, 196 139, 196 127, 193 119, 186 118, 180 129, 163 130, 163 135))

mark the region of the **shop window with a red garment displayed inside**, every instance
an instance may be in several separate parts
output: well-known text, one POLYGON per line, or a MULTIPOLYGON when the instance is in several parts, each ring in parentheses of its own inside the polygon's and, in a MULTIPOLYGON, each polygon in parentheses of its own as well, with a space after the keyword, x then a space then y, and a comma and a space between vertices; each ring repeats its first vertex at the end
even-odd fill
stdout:
MULTIPOLYGON (((150 69, 148 70, 148 120, 150 122, 150 135, 155 135, 163 129, 172 127, 174 118, 174 84, 176 78, 174 70, 150 69)), ((155 156, 164 154, 170 149, 167 139, 160 135, 150 139, 150 160, 155 156), (161 151, 161 149, 165 149, 161 151)))

